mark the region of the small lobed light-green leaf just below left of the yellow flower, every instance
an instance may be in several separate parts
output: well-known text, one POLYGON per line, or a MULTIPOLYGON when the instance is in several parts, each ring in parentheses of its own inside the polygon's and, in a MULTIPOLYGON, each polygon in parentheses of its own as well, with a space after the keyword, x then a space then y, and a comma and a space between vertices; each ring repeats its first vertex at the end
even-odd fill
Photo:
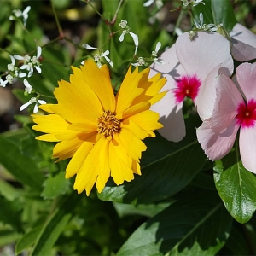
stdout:
POLYGON ((48 177, 44 181, 42 196, 44 199, 54 199, 58 195, 64 195, 69 189, 70 182, 65 178, 64 172, 59 172, 55 177, 48 177))

